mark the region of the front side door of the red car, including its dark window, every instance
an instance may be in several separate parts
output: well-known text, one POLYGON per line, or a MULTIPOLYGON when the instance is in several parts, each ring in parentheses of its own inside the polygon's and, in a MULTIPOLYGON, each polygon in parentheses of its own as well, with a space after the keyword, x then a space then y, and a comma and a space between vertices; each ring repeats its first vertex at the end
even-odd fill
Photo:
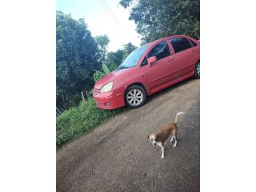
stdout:
POLYGON ((146 78, 151 90, 170 82, 178 74, 178 70, 174 66, 173 55, 170 53, 170 47, 166 40, 155 45, 146 58, 152 56, 155 56, 157 61, 145 68, 146 78))

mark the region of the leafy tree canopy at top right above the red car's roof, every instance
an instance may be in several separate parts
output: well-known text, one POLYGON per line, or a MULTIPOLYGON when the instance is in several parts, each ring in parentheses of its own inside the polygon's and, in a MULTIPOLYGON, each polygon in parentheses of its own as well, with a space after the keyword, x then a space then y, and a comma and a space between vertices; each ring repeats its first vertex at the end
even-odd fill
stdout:
POLYGON ((130 20, 137 24, 143 42, 174 34, 200 37, 200 0, 121 0, 130 7, 130 20))

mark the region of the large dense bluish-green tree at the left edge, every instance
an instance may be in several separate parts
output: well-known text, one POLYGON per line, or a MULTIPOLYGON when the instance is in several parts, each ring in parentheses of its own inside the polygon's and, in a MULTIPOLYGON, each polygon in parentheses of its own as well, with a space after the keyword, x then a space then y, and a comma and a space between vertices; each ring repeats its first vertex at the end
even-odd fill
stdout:
POLYGON ((98 45, 91 37, 84 19, 57 11, 56 73, 57 106, 70 106, 80 100, 81 90, 93 86, 94 70, 100 70, 98 45))

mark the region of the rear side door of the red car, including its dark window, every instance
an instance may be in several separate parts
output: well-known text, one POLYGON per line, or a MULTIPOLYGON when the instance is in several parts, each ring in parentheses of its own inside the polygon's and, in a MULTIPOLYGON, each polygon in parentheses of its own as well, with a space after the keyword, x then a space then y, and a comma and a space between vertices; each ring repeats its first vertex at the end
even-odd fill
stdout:
POLYGON ((178 67, 178 77, 182 78, 194 71, 196 59, 194 48, 187 38, 170 38, 174 49, 174 60, 178 67))

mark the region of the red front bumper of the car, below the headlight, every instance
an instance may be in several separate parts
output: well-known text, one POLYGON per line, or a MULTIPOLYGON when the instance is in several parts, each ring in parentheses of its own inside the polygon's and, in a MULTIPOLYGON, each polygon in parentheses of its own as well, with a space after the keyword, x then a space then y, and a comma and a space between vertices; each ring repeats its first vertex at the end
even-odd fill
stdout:
POLYGON ((94 89, 93 96, 96 106, 101 109, 113 110, 125 106, 121 89, 112 90, 108 93, 100 93, 100 90, 94 89))

